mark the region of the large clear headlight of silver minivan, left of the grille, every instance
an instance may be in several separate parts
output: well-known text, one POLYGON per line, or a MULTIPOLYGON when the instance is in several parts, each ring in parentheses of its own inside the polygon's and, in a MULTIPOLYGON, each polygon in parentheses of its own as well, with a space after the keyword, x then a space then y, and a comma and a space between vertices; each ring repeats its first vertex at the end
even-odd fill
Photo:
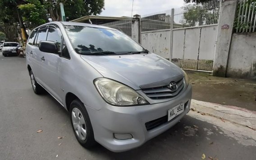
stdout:
POLYGON ((148 104, 146 99, 132 88, 108 78, 97 78, 94 84, 106 102, 116 106, 148 104))

